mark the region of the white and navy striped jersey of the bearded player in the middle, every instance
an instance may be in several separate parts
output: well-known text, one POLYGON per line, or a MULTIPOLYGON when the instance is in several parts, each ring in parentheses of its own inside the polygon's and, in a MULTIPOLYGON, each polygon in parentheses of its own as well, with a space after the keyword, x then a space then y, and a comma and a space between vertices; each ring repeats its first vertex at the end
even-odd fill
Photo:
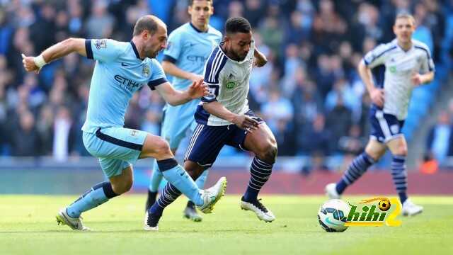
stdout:
POLYGON ((252 41, 247 56, 242 61, 231 60, 222 51, 222 44, 215 47, 205 64, 205 84, 209 94, 202 97, 195 112, 197 123, 211 126, 230 125, 227 120, 207 113, 202 104, 218 101, 231 113, 248 112, 248 81, 253 67, 255 43, 252 41))

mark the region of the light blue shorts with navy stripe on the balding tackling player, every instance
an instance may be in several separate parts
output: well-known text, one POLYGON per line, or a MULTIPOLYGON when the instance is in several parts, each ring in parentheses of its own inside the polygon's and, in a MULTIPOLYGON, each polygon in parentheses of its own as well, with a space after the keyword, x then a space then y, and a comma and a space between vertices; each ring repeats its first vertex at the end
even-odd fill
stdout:
POLYGON ((99 128, 83 135, 86 150, 99 159, 108 178, 137 161, 146 138, 147 132, 129 128, 99 128))

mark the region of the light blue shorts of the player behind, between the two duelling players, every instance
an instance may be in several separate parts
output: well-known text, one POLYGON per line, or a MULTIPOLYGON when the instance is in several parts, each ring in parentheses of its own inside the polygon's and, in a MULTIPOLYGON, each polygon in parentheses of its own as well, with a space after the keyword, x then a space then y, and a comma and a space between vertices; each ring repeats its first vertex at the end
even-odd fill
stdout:
POLYGON ((195 130, 197 123, 193 115, 198 101, 190 101, 180 106, 166 106, 162 123, 161 137, 170 145, 170 149, 177 149, 184 137, 195 130))

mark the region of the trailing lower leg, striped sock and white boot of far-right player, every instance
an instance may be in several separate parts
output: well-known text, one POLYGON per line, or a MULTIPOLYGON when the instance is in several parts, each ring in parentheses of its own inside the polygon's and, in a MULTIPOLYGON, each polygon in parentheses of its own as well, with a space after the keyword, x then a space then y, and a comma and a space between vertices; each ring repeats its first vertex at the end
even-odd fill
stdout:
POLYGON ((345 188, 365 174, 365 171, 367 171, 369 166, 374 164, 374 162, 377 162, 382 155, 384 155, 386 149, 386 145, 382 142, 370 139, 367 147, 365 147, 365 152, 352 160, 352 163, 349 165, 340 181, 338 181, 338 183, 329 183, 326 185, 327 196, 331 199, 340 198, 341 194, 345 191, 345 188))

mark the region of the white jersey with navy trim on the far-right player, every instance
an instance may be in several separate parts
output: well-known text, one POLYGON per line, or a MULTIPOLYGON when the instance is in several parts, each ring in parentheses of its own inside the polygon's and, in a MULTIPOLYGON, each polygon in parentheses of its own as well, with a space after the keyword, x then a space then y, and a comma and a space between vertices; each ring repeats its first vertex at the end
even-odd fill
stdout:
POLYGON ((375 78, 377 85, 384 87, 383 111, 395 115, 398 120, 406 119, 408 114, 413 72, 424 74, 435 69, 430 49, 418 40, 412 40, 408 51, 401 49, 396 39, 392 40, 368 52, 362 61, 370 69, 379 67, 375 78))

